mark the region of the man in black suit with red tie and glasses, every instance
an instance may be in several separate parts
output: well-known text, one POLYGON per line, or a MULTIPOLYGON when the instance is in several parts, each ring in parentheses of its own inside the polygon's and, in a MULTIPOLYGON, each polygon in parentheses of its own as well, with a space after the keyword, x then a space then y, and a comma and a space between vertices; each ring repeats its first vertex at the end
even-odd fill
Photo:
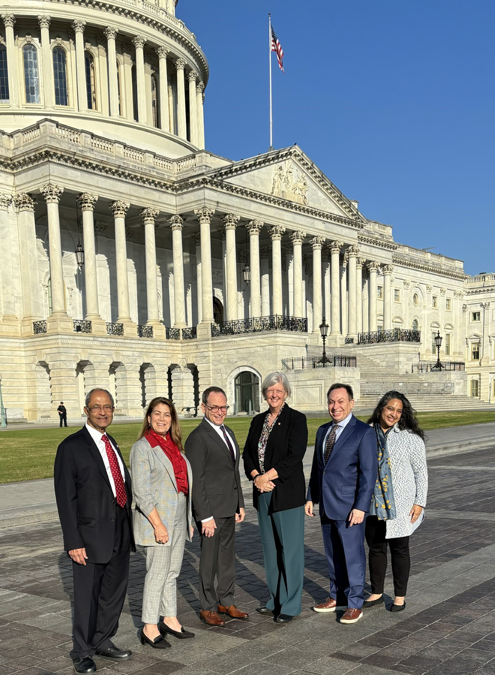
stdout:
POLYGON ((106 433, 113 398, 105 389, 86 396, 88 417, 62 441, 55 457, 55 497, 65 550, 74 577, 73 648, 77 673, 96 671, 93 655, 123 661, 130 650, 115 647, 127 580, 132 535, 131 477, 119 446, 106 433))

